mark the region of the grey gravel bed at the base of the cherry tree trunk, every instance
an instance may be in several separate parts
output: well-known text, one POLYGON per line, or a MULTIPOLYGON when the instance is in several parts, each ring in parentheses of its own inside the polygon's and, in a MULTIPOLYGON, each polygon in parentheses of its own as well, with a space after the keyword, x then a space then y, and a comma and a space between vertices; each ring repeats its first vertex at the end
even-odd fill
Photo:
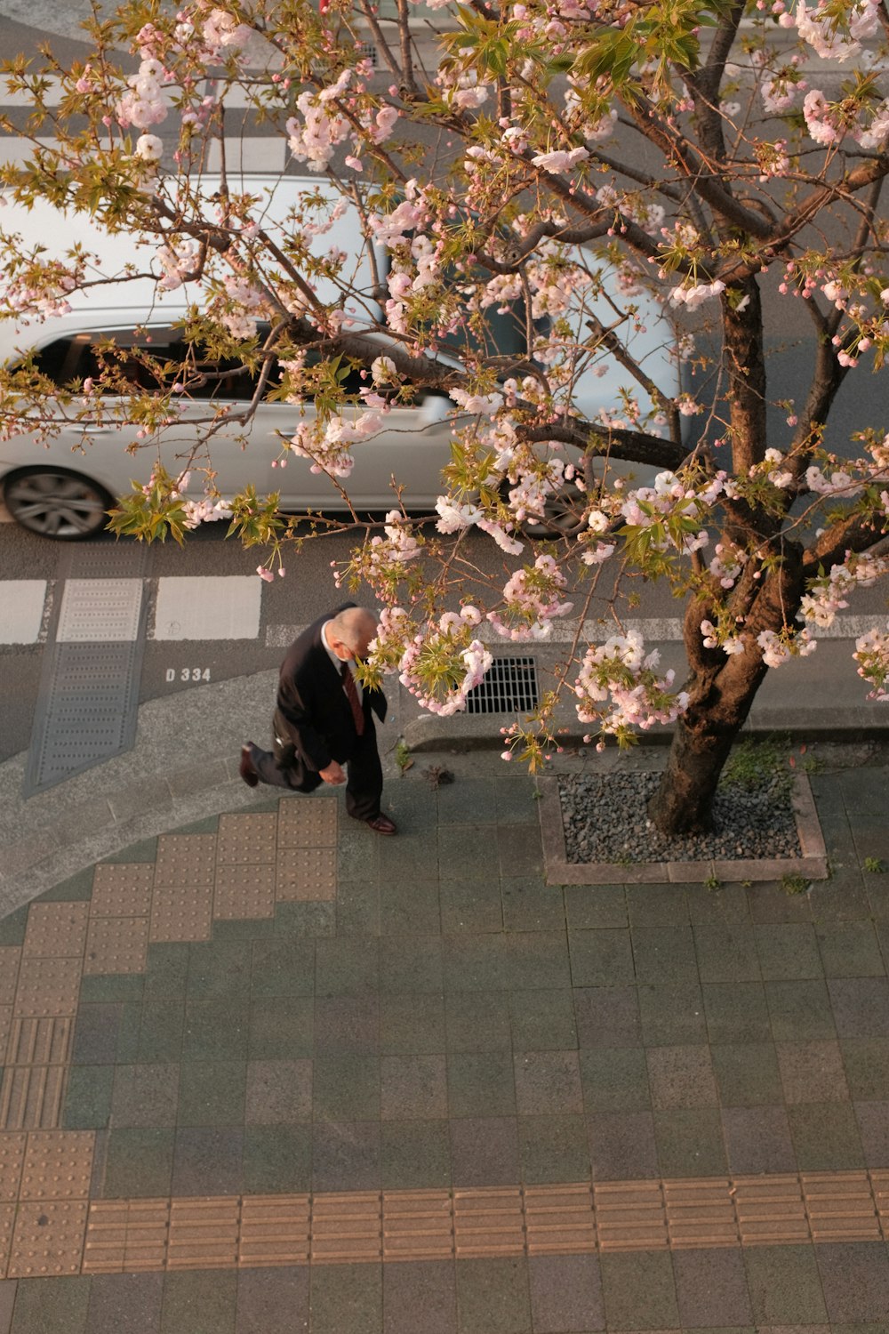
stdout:
POLYGON ((710 834, 665 838, 650 822, 660 774, 628 770, 558 776, 569 862, 708 862, 801 856, 785 775, 749 790, 721 783, 710 834))

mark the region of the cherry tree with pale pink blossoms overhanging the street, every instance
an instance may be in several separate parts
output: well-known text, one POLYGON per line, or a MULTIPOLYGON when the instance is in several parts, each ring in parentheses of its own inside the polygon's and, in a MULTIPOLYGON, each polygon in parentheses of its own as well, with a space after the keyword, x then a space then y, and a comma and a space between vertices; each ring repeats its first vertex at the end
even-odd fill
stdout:
MULTIPOLYGON (((650 815, 668 834, 706 827, 766 672, 812 654, 889 568, 886 423, 850 451, 830 426, 844 380, 872 392, 889 347, 885 3, 187 0, 129 3, 88 31, 83 65, 49 52, 7 64, 33 103, 33 152, 4 181, 20 203, 151 243, 152 259, 108 273, 83 247, 48 259, 13 236, 0 313, 40 320, 149 272, 159 293, 187 292, 184 338, 201 352, 176 366, 140 354, 140 388, 132 351, 109 346, 101 374, 61 395, 31 362, 7 368, 4 435, 25 416, 49 435, 60 412, 88 435, 125 412, 151 450, 224 360, 252 398, 235 414, 209 400, 181 472, 145 480, 144 464, 119 534, 181 539, 224 516, 273 578, 307 532, 352 526, 337 579, 384 607, 365 671, 400 674, 440 714, 490 663, 482 626, 545 640, 569 612, 582 627, 608 590, 612 632, 588 643, 577 630, 558 688, 600 746, 672 723, 650 815), (284 225, 231 169, 231 105, 324 185, 284 225), (320 244, 347 209, 361 264, 320 244), (798 307, 809 386, 782 404, 776 440, 766 342, 798 307), (365 379, 347 392, 352 367, 365 379), (609 400, 588 410, 600 374, 609 400), (307 528, 275 495, 216 490, 215 434, 235 420, 248 438, 271 398, 293 407, 280 466, 308 458, 348 496, 356 454, 423 391, 446 395, 453 419, 425 522, 397 479, 383 526, 353 511, 307 528), (472 530, 500 548, 502 578, 468 572, 472 530), (626 626, 622 590, 640 574, 685 599, 681 688, 626 626)), ((889 635, 853 656, 885 699, 889 635)), ((557 694, 509 728, 506 756, 552 754, 557 694)))

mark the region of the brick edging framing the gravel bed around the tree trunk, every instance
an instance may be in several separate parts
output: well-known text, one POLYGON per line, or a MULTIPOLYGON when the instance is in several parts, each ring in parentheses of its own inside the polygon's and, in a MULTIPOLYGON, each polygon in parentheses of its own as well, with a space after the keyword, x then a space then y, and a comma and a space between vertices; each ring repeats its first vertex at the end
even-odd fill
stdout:
POLYGON ((772 856, 757 860, 700 862, 569 862, 565 852, 558 799, 558 779, 540 778, 540 830, 544 844, 548 884, 702 884, 740 880, 780 880, 782 875, 801 875, 806 880, 826 880, 828 855, 821 824, 805 774, 794 774, 790 802, 800 839, 801 856, 772 856))

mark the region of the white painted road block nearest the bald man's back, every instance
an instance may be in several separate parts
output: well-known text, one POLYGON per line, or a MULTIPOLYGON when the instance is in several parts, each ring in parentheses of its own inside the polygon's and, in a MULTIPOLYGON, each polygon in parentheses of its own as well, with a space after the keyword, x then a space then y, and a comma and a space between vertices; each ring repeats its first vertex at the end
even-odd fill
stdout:
POLYGON ((257 639, 261 602, 257 575, 159 579, 149 639, 257 639))

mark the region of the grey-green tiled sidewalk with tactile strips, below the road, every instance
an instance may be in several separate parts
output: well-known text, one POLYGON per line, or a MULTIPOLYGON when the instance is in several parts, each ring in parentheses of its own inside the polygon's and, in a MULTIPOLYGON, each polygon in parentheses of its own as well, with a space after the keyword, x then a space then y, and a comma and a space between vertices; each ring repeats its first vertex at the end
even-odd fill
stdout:
POLYGON ((788 895, 548 886, 490 752, 389 764, 395 839, 236 755, 0 923, 0 1334, 885 1334, 886 768, 788 895))

